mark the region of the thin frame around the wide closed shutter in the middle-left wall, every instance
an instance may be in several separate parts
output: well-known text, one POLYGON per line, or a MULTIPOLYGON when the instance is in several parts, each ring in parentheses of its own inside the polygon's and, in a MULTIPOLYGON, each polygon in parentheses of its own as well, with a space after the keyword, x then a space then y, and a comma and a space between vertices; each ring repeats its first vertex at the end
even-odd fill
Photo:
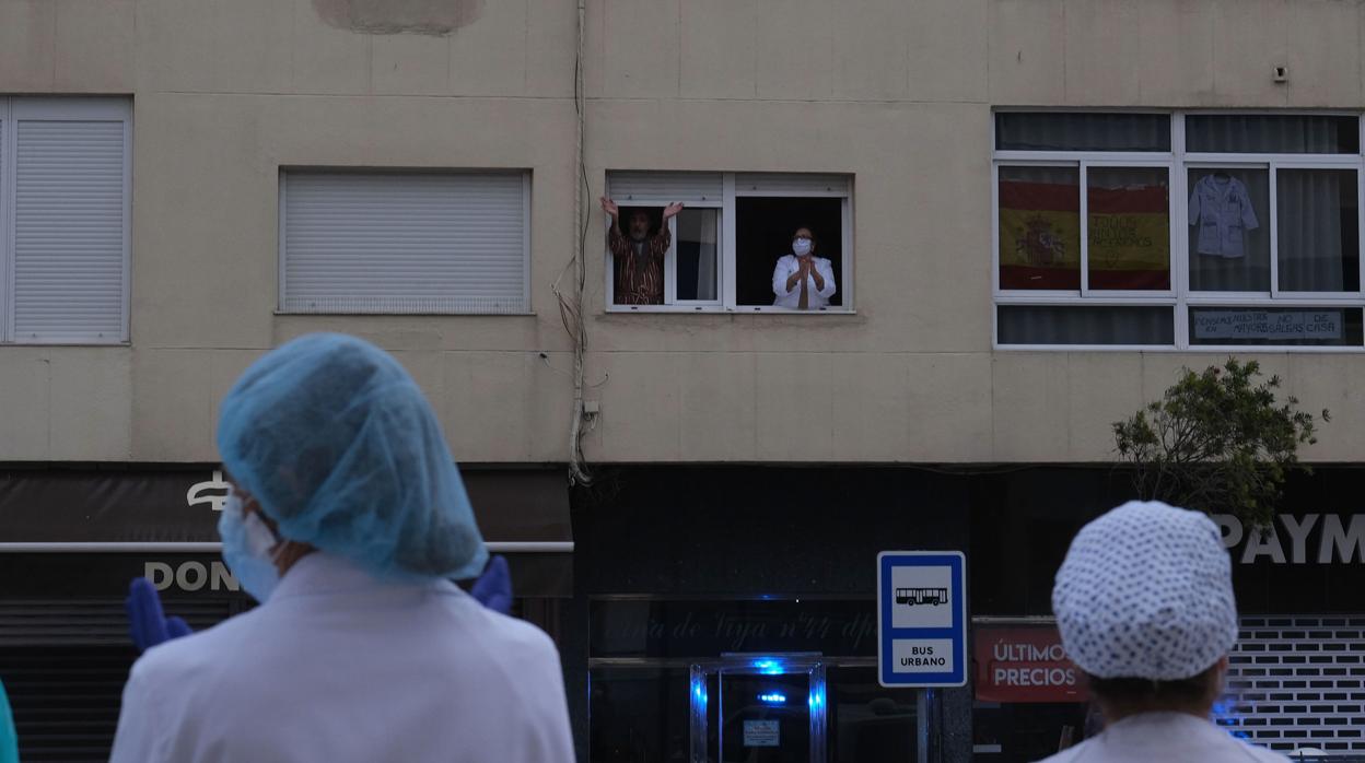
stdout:
POLYGON ((500 169, 500 168, 356 168, 356 167, 318 167, 318 165, 281 165, 277 171, 277 192, 276 192, 276 315, 480 315, 480 317, 526 317, 535 315, 531 307, 531 171, 530 169, 500 169), (373 313, 373 311, 300 311, 300 310, 287 310, 285 308, 285 284, 287 284, 287 254, 285 254, 285 203, 287 203, 287 187, 288 176, 291 173, 324 173, 330 172, 336 175, 393 175, 393 173, 426 173, 426 175, 441 175, 441 173, 468 173, 468 175, 520 175, 521 176, 521 210, 526 216, 526 221, 521 225, 521 272, 526 277, 521 278, 521 304, 526 306, 524 310, 509 310, 509 311, 438 311, 438 313, 373 313))

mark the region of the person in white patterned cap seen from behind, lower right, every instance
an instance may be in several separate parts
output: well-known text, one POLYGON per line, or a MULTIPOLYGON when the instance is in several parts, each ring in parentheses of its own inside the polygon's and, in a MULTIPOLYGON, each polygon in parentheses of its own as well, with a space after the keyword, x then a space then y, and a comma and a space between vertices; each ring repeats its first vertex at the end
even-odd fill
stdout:
POLYGON ((1104 730, 1047 763, 1287 760, 1211 718, 1237 602, 1208 516, 1132 501, 1087 524, 1057 572, 1052 613, 1104 730))

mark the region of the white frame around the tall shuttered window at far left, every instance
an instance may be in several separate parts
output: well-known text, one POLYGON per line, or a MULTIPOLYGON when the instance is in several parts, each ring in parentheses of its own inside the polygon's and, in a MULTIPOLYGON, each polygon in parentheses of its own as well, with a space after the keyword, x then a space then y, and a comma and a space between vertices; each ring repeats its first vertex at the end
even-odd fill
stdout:
POLYGON ((109 345, 128 343, 132 281, 132 102, 111 97, 0 96, 0 345, 109 345), (15 334, 15 216, 18 207, 19 120, 100 120, 123 123, 123 288, 116 336, 75 339, 15 334))

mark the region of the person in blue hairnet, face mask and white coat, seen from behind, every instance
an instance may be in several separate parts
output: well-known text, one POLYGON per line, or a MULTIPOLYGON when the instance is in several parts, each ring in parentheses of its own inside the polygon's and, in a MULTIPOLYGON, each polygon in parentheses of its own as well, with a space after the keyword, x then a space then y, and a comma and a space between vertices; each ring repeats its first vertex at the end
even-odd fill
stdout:
POLYGON ((117 763, 573 760, 554 644, 448 579, 487 560, 422 392, 310 334, 222 401, 222 557, 261 606, 132 666, 117 763))

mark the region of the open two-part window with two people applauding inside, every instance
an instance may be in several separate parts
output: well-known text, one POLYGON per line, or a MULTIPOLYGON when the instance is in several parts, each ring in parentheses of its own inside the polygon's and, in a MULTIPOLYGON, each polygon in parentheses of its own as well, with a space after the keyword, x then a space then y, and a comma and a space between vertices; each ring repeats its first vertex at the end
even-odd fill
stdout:
POLYGON ((609 172, 607 197, 610 311, 852 310, 846 175, 609 172))

